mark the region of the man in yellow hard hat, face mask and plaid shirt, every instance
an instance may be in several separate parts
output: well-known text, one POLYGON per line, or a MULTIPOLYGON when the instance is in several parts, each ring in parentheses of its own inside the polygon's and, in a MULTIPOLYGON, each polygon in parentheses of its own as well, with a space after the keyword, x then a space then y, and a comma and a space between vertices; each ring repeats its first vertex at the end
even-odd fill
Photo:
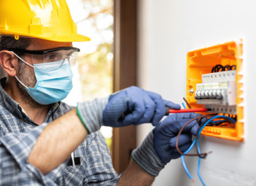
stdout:
MULTIPOLYGON (((151 185, 179 157, 176 134, 198 114, 173 114, 158 124, 165 107, 180 109, 158 94, 129 87, 76 108, 60 102, 72 88, 79 52, 72 41, 89 41, 76 33, 64 0, 1 1, 0 12, 7 74, 0 85, 0 185, 151 185), (118 175, 100 127, 141 123, 157 126, 118 175)), ((185 127, 181 150, 197 129, 196 121, 185 127)))

